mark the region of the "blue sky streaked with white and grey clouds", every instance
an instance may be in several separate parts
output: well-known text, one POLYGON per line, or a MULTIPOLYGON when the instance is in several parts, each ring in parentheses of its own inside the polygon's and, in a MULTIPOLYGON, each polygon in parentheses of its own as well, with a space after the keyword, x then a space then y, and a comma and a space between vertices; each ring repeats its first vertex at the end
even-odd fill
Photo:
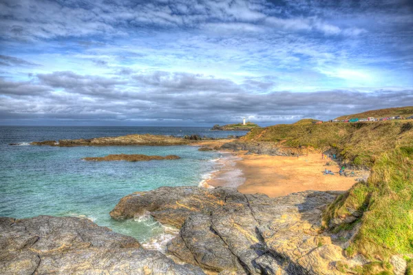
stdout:
POLYGON ((0 1, 0 125, 274 125, 406 105, 409 0, 0 1))

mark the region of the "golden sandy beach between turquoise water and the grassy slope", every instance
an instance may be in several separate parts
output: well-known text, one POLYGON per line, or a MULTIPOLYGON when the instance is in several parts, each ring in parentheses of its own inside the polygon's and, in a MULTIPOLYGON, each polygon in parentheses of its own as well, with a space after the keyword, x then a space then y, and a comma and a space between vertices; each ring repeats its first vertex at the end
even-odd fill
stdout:
MULTIPOLYGON (((228 154, 228 153, 227 153, 228 154)), ((348 190, 354 177, 339 176, 340 167, 326 166, 321 154, 308 156, 267 156, 236 153, 223 158, 221 169, 207 181, 209 185, 232 186, 244 194, 263 193, 270 197, 285 196, 306 190, 348 190), (324 175, 325 169, 335 175, 324 175)))

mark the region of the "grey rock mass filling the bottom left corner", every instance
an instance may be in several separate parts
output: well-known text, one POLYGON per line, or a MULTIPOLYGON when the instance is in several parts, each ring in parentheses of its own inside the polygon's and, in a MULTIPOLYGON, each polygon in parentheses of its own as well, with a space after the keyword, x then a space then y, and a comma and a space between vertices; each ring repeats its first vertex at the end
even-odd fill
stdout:
POLYGON ((85 218, 0 218, 0 274, 204 274, 85 218))

